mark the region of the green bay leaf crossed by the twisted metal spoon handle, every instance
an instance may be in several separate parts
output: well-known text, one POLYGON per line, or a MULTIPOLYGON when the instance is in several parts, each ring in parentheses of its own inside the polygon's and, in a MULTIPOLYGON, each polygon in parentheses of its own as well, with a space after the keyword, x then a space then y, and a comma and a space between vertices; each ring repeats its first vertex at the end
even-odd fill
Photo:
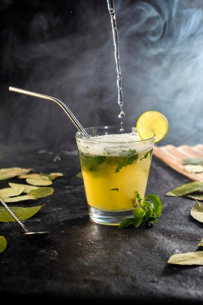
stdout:
MULTIPOLYGON (((38 207, 29 207, 29 208, 22 208, 22 207, 10 207, 11 210, 14 211, 16 216, 19 220, 23 221, 30 217, 32 217, 38 210, 40 210, 45 204, 38 206, 38 207)), ((1 222, 10 222, 16 221, 11 214, 6 210, 4 207, 0 207, 0 221, 1 222)))

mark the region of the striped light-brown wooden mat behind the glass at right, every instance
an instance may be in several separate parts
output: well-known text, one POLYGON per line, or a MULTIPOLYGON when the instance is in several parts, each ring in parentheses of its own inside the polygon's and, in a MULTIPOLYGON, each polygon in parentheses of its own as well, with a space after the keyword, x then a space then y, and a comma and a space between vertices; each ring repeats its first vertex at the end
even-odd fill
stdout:
POLYGON ((178 147, 173 145, 154 146, 153 154, 190 180, 203 181, 203 172, 186 172, 183 164, 183 159, 186 158, 203 158, 203 144, 195 146, 181 145, 178 147))

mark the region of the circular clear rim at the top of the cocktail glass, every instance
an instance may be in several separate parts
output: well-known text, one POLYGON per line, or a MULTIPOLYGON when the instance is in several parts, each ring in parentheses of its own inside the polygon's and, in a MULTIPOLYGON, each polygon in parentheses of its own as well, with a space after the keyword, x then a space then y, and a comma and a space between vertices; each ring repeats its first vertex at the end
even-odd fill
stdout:
MULTIPOLYGON (((87 127, 87 128, 84 128, 85 129, 85 131, 87 131, 88 129, 93 129, 93 128, 103 128, 103 129, 108 129, 108 128, 112 128, 112 127, 118 127, 118 128, 121 128, 121 125, 100 125, 100 126, 91 126, 91 127, 87 127)), ((136 130, 136 127, 135 126, 129 126, 129 125, 122 125, 122 128, 124 129, 124 128, 135 128, 135 130, 136 130)), ((84 137, 79 137, 78 136, 78 133, 81 133, 81 134, 83 134, 81 131, 77 131, 76 133, 75 133, 75 137, 77 138, 77 139, 79 139, 79 140, 82 140, 82 141, 86 141, 87 143, 89 143, 89 142, 92 142, 92 143, 98 143, 98 141, 95 141, 95 140, 93 140, 93 139, 87 139, 87 138, 85 138, 85 136, 84 137)), ((137 133, 137 131, 136 131, 136 133, 137 133)), ((119 143, 117 143, 117 142, 111 142, 111 141, 101 141, 102 143, 109 143, 109 144, 129 144, 129 143, 143 143, 143 142, 147 142, 147 141, 150 141, 150 140, 152 140, 152 139, 155 139, 155 133, 154 132, 152 132, 153 133, 153 136, 152 137, 150 137, 150 138, 148 138, 148 139, 144 139, 144 140, 138 140, 138 141, 127 141, 127 142, 119 142, 119 143)), ((124 134, 124 133, 123 133, 124 134)), ((138 134, 138 133, 137 133, 138 134)))

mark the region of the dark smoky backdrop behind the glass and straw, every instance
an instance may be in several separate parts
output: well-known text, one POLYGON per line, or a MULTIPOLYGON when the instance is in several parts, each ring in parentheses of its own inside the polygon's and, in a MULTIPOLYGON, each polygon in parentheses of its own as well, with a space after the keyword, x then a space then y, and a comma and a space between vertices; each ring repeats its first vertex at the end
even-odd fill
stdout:
MULTIPOLYGON (((203 1, 115 0, 125 112, 169 120, 159 145, 202 142, 203 1)), ((15 86, 65 102, 84 127, 120 124, 116 63, 106 0, 0 0, 0 143, 69 146, 76 129, 56 104, 9 92, 15 86)))

